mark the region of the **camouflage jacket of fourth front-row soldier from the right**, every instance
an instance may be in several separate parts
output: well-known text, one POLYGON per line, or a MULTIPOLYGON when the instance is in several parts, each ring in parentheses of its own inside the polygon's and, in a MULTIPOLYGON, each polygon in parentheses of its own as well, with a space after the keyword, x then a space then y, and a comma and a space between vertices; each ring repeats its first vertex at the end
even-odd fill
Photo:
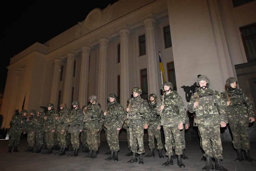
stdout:
MULTIPOLYGON (((126 112, 126 123, 128 127, 148 125, 151 119, 148 102, 140 96, 130 98, 132 101, 130 110, 126 112)), ((128 100, 128 101, 129 101, 128 100)))

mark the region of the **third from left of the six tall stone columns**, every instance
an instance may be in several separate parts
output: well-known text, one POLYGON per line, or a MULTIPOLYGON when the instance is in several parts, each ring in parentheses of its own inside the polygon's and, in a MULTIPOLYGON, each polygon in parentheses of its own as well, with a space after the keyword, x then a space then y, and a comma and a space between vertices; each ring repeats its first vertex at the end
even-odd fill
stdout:
POLYGON ((91 47, 82 47, 81 70, 80 70, 80 86, 79 86, 79 102, 80 105, 87 105, 88 96, 88 74, 89 74, 89 56, 91 47))

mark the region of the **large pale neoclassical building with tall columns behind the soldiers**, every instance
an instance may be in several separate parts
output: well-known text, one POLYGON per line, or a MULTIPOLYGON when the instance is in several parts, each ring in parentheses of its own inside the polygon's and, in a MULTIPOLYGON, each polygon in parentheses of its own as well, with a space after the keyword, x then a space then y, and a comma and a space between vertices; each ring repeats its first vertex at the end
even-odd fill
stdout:
POLYGON ((207 75, 219 91, 235 76, 253 99, 255 47, 255 0, 119 0, 11 58, 2 127, 10 127, 15 110, 48 103, 71 107, 73 100, 82 106, 90 95, 97 95, 102 110, 110 93, 126 106, 136 86, 143 98, 151 93, 159 97, 159 52, 166 80, 185 105, 181 86, 194 84, 198 74, 207 75))

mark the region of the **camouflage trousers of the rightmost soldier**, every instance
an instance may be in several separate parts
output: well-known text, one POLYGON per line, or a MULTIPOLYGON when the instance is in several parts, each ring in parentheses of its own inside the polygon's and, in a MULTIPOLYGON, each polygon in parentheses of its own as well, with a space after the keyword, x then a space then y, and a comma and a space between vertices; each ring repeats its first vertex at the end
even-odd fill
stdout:
POLYGON ((230 130, 233 136, 233 146, 235 149, 249 150, 249 130, 248 123, 229 123, 230 130))

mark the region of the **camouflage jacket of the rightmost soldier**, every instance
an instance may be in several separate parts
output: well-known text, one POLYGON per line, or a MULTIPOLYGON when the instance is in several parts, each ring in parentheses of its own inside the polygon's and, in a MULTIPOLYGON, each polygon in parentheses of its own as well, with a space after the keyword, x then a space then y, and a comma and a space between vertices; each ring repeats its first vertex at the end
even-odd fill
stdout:
MULTIPOLYGON (((226 113, 229 122, 249 123, 250 117, 255 118, 253 103, 244 90, 227 90, 227 93, 231 102, 229 106, 226 106, 226 113)), ((225 102, 227 102, 226 92, 222 92, 222 96, 225 99, 225 102)))

